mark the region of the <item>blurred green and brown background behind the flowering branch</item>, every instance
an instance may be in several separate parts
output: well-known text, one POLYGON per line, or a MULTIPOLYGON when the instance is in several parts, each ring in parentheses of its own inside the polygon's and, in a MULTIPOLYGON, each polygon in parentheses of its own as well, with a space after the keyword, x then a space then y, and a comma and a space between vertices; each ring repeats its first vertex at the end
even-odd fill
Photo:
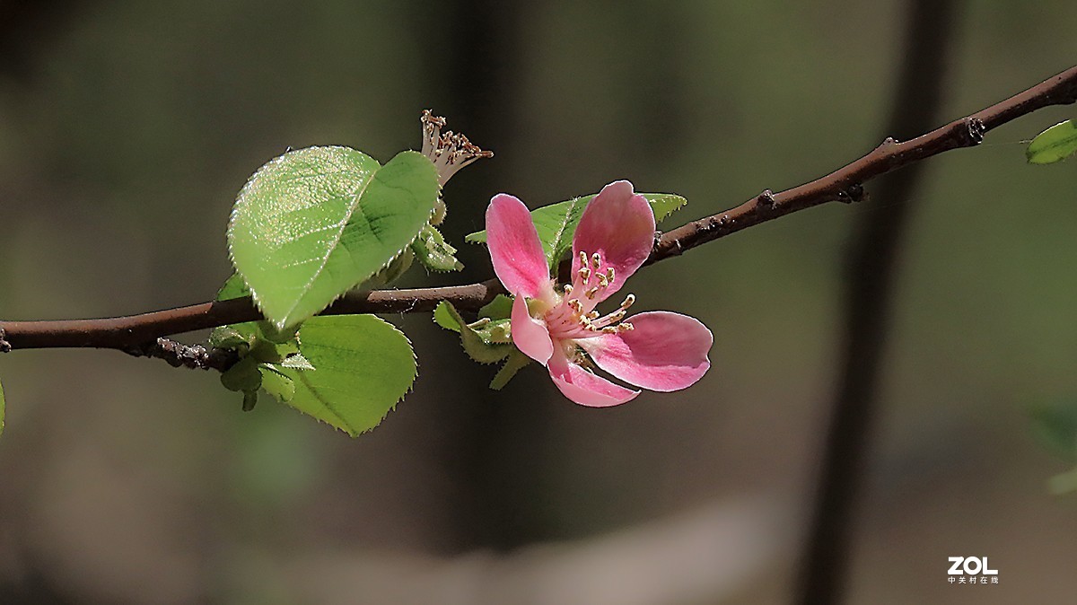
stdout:
MULTIPOLYGON (((418 149, 419 113, 498 156, 446 188, 620 178, 689 206, 822 175, 882 136, 904 2, 0 2, 0 316, 207 300, 247 177, 286 147, 418 149)), ((969 0, 941 122, 1075 62, 1073 2, 969 0)), ((1077 501, 1027 410, 1077 399, 1077 170, 1029 167, 1048 109, 928 164, 901 251, 849 603, 1068 603, 1077 501), (952 586, 951 555, 997 586, 952 586)), ((869 186, 870 189, 870 186, 869 186)), ((0 360, 0 602, 787 603, 871 202, 754 227, 642 271, 641 309, 715 333, 695 388, 592 410, 538 368, 501 393, 428 315, 420 376, 350 439, 215 376, 112 351, 0 360)), ((463 276, 491 275, 460 243, 463 276)), ((190 335, 195 341, 201 335, 190 335)))

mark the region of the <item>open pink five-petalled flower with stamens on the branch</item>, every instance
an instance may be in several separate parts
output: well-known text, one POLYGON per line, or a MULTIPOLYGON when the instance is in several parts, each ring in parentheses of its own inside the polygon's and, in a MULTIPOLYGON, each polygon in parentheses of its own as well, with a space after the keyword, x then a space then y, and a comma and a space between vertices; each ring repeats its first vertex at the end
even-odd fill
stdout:
POLYGON ((554 384, 573 402, 616 406, 640 394, 595 375, 593 365, 652 391, 684 389, 711 367, 707 354, 714 337, 699 320, 654 311, 623 322, 635 301, 632 294, 607 315, 595 310, 643 265, 654 243, 655 215, 632 183, 610 183, 584 210, 572 240, 572 284, 562 289, 550 279, 523 202, 495 196, 486 211, 486 229, 493 270, 516 296, 513 342, 546 366, 554 384))

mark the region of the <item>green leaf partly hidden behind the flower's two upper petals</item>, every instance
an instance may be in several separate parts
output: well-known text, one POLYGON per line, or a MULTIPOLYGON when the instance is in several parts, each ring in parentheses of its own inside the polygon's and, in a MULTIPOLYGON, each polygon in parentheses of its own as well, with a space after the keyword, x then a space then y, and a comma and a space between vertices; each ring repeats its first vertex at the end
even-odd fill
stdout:
MULTIPOLYGON (((531 211, 531 221, 538 231, 538 239, 542 241, 543 252, 546 253, 546 263, 554 267, 572 250, 572 236, 576 233, 579 217, 584 215, 584 209, 598 194, 570 199, 544 206, 531 211)), ((660 222, 672 214, 675 210, 688 203, 685 198, 673 194, 642 194, 651 203, 651 210, 655 213, 655 222, 660 222)), ((486 242, 486 231, 477 231, 464 238, 471 243, 486 242)))

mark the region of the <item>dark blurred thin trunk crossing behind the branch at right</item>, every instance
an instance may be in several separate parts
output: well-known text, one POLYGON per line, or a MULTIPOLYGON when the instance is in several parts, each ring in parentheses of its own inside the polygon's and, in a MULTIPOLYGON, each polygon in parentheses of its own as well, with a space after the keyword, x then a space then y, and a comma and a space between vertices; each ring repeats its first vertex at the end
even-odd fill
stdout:
MULTIPOLYGON (((908 3, 903 62, 887 135, 911 137, 934 125, 960 4, 960 0, 908 3)), ((923 164, 914 164, 881 181, 871 202, 876 208, 864 214, 849 251, 841 378, 797 583, 797 600, 806 605, 838 603, 847 583, 855 505, 879 399, 895 267, 923 169, 923 164)))

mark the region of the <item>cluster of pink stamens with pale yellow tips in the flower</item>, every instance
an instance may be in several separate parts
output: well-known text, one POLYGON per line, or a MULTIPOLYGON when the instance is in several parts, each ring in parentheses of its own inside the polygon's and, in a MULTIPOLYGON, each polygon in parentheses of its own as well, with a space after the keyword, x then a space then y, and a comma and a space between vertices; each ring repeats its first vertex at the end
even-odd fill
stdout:
POLYGON ((592 338, 600 334, 617 334, 632 329, 632 324, 623 322, 628 308, 635 302, 635 295, 629 294, 620 307, 612 313, 599 315, 595 306, 605 298, 602 291, 614 280, 613 267, 602 263, 602 256, 590 256, 579 252, 579 269, 572 277, 572 283, 564 286, 564 295, 558 305, 546 311, 546 328, 556 339, 592 338))

